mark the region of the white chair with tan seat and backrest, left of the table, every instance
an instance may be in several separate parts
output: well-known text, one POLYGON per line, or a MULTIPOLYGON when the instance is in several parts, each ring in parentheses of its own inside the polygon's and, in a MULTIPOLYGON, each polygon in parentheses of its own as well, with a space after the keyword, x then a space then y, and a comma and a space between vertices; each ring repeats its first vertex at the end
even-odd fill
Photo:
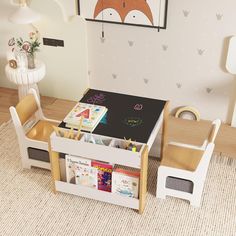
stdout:
POLYGON ((16 129, 23 168, 31 166, 50 169, 48 141, 59 121, 47 119, 34 89, 29 90, 16 107, 10 107, 16 129))

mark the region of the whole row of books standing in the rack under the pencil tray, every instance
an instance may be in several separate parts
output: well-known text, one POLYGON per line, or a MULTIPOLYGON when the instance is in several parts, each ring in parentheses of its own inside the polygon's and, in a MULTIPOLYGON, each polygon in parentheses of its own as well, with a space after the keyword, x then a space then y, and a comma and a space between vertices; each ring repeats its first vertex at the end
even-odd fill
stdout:
POLYGON ((138 198, 139 177, 138 171, 114 169, 109 163, 66 155, 68 183, 138 198))

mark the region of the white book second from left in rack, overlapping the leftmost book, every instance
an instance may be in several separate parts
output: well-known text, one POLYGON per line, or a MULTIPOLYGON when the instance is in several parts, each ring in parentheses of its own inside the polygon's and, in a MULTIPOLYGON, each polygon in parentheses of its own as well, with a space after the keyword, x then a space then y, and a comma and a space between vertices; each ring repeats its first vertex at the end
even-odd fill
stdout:
POLYGON ((97 189, 98 170, 91 166, 77 164, 75 183, 97 189))

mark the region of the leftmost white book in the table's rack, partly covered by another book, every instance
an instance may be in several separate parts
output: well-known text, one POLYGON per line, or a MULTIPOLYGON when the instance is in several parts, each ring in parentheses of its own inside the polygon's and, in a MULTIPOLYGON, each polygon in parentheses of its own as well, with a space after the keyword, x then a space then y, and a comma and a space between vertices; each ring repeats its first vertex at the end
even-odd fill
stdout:
POLYGON ((91 166, 91 160, 77 157, 77 156, 71 156, 66 155, 66 181, 71 184, 75 184, 75 177, 78 169, 78 165, 84 165, 84 166, 91 166))

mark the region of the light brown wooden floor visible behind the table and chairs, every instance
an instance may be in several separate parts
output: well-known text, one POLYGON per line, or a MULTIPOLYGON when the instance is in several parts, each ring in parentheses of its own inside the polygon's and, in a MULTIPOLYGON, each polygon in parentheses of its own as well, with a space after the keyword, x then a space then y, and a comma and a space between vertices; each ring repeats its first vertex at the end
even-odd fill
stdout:
MULTIPOLYGON (((0 88, 0 124, 10 119, 9 107, 18 102, 17 91, 0 88)), ((41 97, 44 114, 53 119, 62 120, 75 105, 75 102, 41 97)), ((169 117, 168 136, 170 140, 201 145, 207 136, 209 121, 189 121, 169 117)), ((222 125, 216 139, 215 151, 236 158, 236 128, 222 125)))

